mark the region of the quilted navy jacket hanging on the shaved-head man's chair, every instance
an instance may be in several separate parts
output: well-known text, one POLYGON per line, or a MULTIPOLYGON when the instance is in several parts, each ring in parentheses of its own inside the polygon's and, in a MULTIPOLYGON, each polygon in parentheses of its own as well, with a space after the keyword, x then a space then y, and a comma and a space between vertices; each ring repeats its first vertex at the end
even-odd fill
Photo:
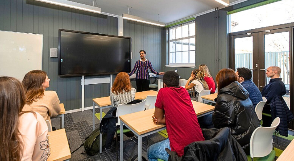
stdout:
POLYGON ((294 119, 294 116, 282 96, 275 96, 270 101, 270 112, 272 119, 280 117, 280 124, 276 130, 279 131, 280 135, 287 137, 288 122, 294 119))

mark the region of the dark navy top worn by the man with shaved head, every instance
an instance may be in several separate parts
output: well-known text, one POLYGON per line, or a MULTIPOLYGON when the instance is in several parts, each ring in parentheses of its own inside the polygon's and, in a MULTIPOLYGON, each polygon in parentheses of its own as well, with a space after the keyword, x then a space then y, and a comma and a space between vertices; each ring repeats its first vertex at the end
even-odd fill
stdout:
POLYGON ((286 87, 284 82, 282 81, 282 78, 270 79, 270 83, 265 85, 265 87, 261 91, 261 95, 266 98, 268 104, 273 99, 273 97, 283 96, 285 94, 286 87))

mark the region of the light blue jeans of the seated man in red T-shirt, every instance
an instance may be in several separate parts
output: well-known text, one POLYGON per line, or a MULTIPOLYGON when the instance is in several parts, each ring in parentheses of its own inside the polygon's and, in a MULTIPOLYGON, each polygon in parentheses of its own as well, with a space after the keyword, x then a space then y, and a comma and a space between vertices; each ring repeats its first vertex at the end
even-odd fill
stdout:
POLYGON ((162 160, 168 160, 169 154, 166 152, 165 148, 171 150, 169 145, 169 139, 155 143, 147 149, 147 157, 149 161, 157 161, 157 158, 162 160))

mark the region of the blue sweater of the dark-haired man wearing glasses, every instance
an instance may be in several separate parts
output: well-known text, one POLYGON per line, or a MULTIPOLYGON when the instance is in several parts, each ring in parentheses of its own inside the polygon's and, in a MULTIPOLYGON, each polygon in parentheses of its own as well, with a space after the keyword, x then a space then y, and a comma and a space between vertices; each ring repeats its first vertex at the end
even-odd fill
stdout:
POLYGON ((250 80, 245 80, 241 83, 241 85, 248 91, 249 98, 255 108, 255 106, 258 104, 258 102, 262 101, 262 96, 260 93, 260 90, 257 88, 257 86, 250 80))

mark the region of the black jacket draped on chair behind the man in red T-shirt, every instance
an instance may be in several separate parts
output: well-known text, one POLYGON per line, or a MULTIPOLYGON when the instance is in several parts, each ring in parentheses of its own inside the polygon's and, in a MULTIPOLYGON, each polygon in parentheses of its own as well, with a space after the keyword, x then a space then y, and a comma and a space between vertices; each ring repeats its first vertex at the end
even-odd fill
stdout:
POLYGON ((222 129, 202 129, 205 141, 195 141, 184 148, 184 155, 169 152, 168 161, 247 161, 241 145, 232 137, 228 127, 222 129))

